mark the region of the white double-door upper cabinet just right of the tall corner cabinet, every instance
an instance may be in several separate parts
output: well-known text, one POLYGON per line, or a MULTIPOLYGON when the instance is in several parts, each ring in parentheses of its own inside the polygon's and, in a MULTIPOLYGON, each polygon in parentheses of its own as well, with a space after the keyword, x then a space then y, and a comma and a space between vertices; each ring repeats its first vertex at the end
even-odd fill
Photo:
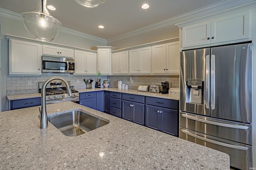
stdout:
POLYGON ((112 53, 112 73, 129 74, 129 52, 112 53))

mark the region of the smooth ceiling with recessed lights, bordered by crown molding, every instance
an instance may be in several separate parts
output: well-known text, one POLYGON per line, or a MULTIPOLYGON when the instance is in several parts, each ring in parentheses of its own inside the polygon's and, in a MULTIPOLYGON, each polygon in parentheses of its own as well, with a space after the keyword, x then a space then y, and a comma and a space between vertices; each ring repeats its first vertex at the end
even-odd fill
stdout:
MULTIPOLYGON (((154 23, 198 10, 216 6, 227 0, 106 0, 98 8, 86 8, 74 0, 48 0, 56 7, 50 14, 62 22, 62 26, 104 39, 112 39, 154 23), (148 3, 150 8, 140 6, 148 3), (214 4, 214 5, 213 5, 214 4), (99 29, 98 25, 104 25, 99 29)), ((242 1, 242 0, 240 0, 242 1)), ((0 8, 22 13, 34 11, 37 0, 0 0, 0 8)), ((228 0, 237 2, 237 0, 228 0)), ((170 30, 171 31, 171 30, 170 30)))

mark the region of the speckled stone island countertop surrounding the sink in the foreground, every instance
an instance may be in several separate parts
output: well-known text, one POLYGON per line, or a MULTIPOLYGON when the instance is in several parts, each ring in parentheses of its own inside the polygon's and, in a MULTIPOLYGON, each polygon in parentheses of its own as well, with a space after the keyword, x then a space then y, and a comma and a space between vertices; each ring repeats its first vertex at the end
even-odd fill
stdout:
POLYGON ((73 102, 46 108, 81 110, 109 123, 67 137, 50 122, 39 128, 38 107, 1 112, 0 169, 229 169, 226 153, 73 102))

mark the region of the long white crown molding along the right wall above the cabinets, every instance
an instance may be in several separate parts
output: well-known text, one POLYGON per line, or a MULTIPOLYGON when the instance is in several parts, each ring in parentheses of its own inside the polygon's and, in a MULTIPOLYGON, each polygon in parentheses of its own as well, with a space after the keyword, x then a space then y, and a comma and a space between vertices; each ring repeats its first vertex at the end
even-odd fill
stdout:
POLYGON ((160 29, 163 27, 175 25, 176 23, 182 23, 189 20, 194 20, 196 18, 202 18, 204 16, 209 16, 212 14, 216 14, 218 12, 222 12, 225 10, 229 10, 231 8, 236 8, 238 6, 243 6, 246 4, 250 4, 255 2, 255 0, 223 0, 221 2, 205 6, 203 8, 199 8, 197 10, 187 12, 185 14, 181 14, 179 16, 175 16, 173 18, 169 18, 167 20, 159 21, 150 25, 147 25, 145 27, 141 27, 139 29, 135 29, 133 31, 129 31, 127 33, 118 35, 116 37, 107 39, 108 43, 112 43, 115 41, 120 41, 122 39, 126 39, 129 37, 133 37, 142 33, 147 33, 149 31, 154 31, 156 29, 160 29))

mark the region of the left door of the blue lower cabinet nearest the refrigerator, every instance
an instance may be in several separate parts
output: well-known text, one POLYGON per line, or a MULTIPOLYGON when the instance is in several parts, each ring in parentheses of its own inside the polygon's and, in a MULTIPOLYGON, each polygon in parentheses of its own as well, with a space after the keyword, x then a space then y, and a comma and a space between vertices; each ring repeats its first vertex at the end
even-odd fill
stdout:
POLYGON ((158 116, 159 107, 146 105, 145 125, 156 130, 160 130, 160 117, 158 116))

